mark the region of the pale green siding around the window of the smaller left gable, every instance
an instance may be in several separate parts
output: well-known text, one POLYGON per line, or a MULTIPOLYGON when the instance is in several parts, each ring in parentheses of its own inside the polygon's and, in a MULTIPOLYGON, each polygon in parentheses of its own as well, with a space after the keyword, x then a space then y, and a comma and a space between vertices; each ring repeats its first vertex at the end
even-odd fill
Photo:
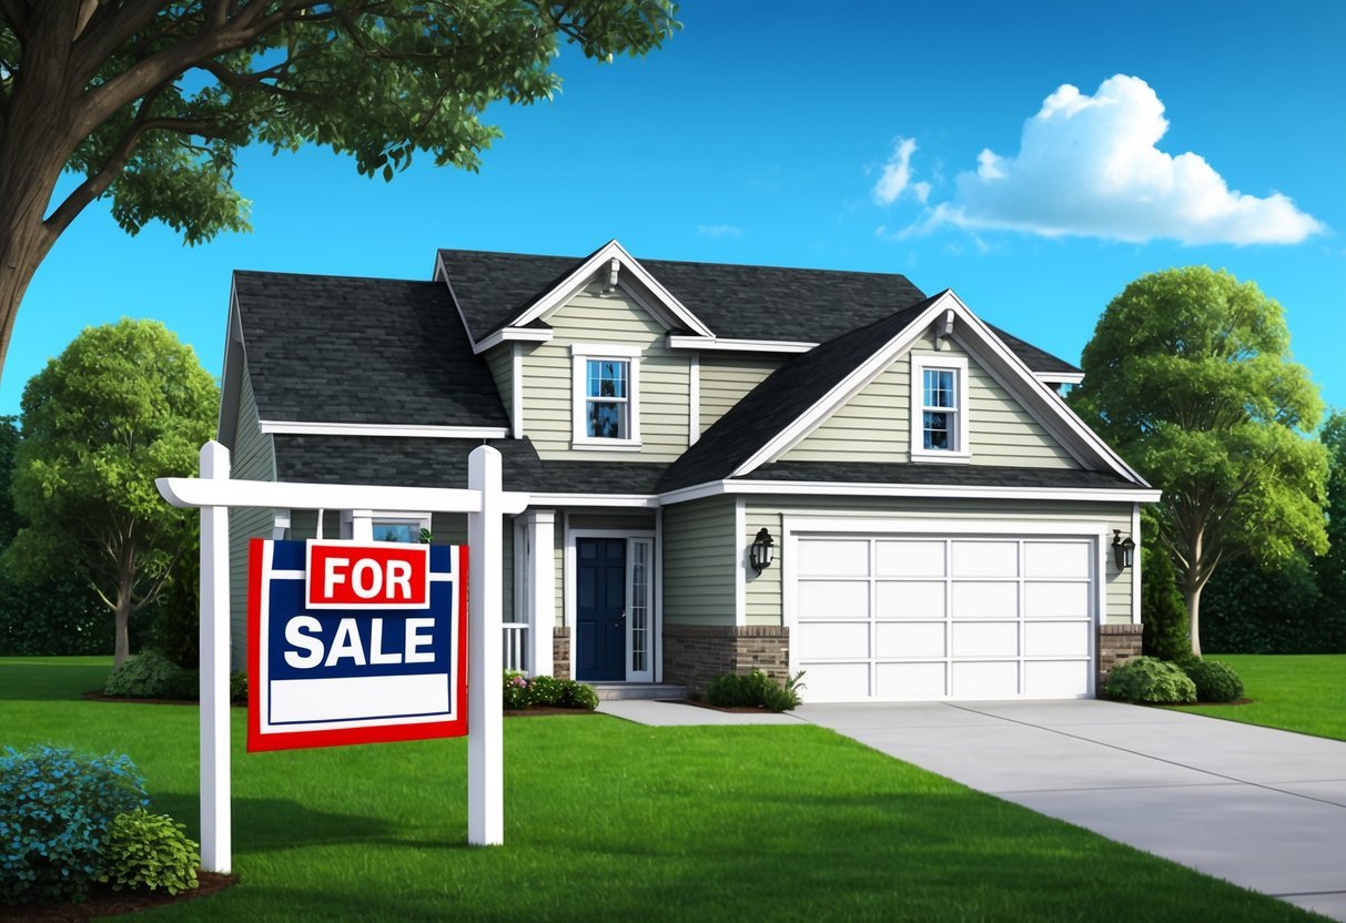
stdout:
POLYGON ((688 447, 690 359, 668 348, 668 331, 622 289, 603 295, 598 284, 546 315, 553 336, 524 348, 524 432, 544 459, 586 461, 673 461, 688 447), (572 449, 571 346, 638 347, 635 400, 641 449, 572 449))

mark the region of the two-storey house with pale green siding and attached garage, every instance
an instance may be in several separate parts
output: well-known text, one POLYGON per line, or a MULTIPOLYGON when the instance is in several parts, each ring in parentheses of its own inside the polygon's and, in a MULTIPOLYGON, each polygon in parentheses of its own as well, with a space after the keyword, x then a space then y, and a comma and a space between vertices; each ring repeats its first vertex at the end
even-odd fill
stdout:
MULTIPOLYGON (((1159 494, 1062 401, 1081 377, 898 274, 440 250, 431 281, 236 273, 219 439, 281 482, 458 487, 498 448, 533 673, 1084 697, 1139 653, 1120 544, 1159 494)), ((423 529, 466 522, 236 513, 236 661, 249 537, 423 529)))

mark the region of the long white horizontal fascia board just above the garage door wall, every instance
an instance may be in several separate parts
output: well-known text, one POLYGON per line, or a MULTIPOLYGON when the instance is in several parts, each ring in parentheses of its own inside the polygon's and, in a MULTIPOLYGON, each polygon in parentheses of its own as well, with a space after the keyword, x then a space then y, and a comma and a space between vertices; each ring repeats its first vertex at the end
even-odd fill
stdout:
POLYGON ((965 484, 847 484, 830 480, 712 480, 660 494, 664 506, 723 494, 786 496, 930 496, 970 501, 1089 501, 1158 503, 1162 491, 1139 487, 970 487, 965 484))

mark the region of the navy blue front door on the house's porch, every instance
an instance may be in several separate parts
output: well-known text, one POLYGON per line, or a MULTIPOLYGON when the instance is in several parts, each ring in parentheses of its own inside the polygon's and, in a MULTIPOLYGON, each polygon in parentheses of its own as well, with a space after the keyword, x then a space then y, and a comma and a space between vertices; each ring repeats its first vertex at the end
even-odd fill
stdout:
POLYGON ((626 679, 626 540, 576 538, 575 678, 626 679))

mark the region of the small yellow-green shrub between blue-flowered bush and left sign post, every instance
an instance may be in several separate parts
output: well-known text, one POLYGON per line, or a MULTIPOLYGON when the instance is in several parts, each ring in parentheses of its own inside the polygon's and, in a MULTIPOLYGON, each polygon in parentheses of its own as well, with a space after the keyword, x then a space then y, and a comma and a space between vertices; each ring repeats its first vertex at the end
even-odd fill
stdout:
POLYGON ((182 893, 197 887, 201 850, 187 827, 167 814, 137 807, 120 814, 108 829, 98 880, 113 891, 182 893))

